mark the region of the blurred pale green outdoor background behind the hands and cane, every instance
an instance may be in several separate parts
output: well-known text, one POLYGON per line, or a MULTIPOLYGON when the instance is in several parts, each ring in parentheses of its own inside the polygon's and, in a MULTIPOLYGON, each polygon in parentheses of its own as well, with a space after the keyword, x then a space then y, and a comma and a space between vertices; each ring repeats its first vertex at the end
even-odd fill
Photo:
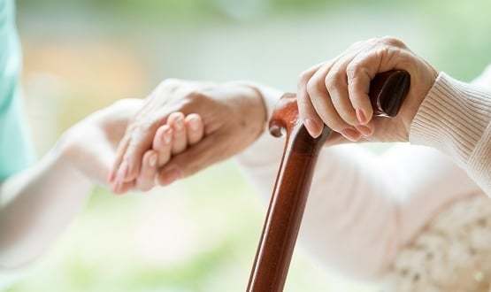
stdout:
MULTIPOLYGON (((373 36, 395 35, 470 81, 491 61, 490 10, 488 0, 22 0, 22 81, 36 147, 42 154, 89 112, 144 97, 169 77, 294 90, 298 73, 373 36)), ((243 291, 265 206, 234 162, 146 195, 99 188, 7 291, 243 291)), ((377 287, 300 247, 286 290, 377 287)))

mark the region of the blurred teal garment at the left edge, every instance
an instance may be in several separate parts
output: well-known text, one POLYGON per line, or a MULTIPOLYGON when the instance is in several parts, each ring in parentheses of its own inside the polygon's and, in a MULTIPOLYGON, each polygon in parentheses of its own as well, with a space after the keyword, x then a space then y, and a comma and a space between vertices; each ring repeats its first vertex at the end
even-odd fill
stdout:
POLYGON ((0 181, 34 160, 19 98, 20 47, 13 0, 0 0, 0 181))

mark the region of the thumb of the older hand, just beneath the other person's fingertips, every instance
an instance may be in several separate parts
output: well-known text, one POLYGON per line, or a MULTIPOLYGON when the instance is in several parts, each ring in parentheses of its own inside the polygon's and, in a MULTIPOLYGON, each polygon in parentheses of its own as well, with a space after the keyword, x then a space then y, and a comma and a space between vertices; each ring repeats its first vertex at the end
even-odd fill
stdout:
POLYGON ((157 174, 158 184, 169 185, 173 181, 188 177, 224 158, 224 151, 219 147, 219 134, 211 134, 188 150, 172 158, 157 174))

